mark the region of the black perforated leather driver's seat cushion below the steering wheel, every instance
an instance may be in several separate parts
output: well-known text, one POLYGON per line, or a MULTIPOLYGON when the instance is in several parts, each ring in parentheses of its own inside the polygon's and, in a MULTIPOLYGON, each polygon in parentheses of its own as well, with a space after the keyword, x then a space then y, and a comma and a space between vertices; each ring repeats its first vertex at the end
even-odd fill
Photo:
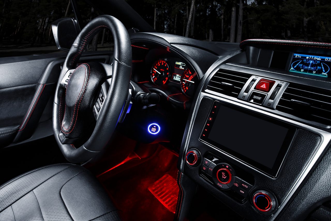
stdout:
POLYGON ((0 220, 121 220, 106 191, 82 166, 55 164, 0 187, 0 220))

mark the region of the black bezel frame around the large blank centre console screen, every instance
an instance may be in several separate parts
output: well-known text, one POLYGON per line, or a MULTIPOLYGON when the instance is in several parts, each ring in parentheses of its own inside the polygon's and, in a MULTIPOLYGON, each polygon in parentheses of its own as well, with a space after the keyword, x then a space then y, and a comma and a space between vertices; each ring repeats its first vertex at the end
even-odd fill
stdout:
POLYGON ((236 151, 234 151, 234 150, 232 150, 230 148, 227 148, 226 146, 223 146, 223 145, 221 145, 221 144, 219 144, 219 143, 217 143, 217 142, 209 139, 209 133, 206 134, 204 130, 205 130, 205 127, 206 127, 206 124, 207 123, 211 124, 209 131, 211 131, 211 129, 213 127, 213 122, 209 122, 208 121, 208 118, 209 118, 209 116, 212 113, 212 109, 210 111, 210 114, 208 115, 208 118, 206 119, 205 127, 203 128, 203 130, 201 132, 201 135, 200 135, 200 140, 202 140, 202 141, 204 141, 204 142, 206 142, 206 143, 208 143, 208 144, 210 144, 210 145, 212 145, 212 146, 214 146, 214 147, 216 147, 216 148, 218 148, 218 149, 220 149, 220 150, 222 150, 222 151, 230 154, 231 156, 239 159, 240 161, 243 161, 246 164, 249 164, 252 167, 255 167, 256 169, 260 170, 261 172, 263 172, 263 173, 265 173, 267 175, 270 175, 272 177, 276 177, 277 174, 278 174, 278 171, 279 171, 279 169, 280 169, 280 167, 281 167, 281 165, 282 165, 282 163, 283 163, 283 161, 285 159, 285 156, 287 154, 287 151, 288 151, 289 147, 291 146, 292 140, 293 140, 293 138, 295 136, 295 133, 296 133, 297 129, 294 128, 294 127, 292 127, 292 126, 290 126, 290 125, 288 125, 288 124, 281 123, 281 122, 275 121, 273 119, 270 119, 270 118, 267 118, 267 117, 264 117, 264 116, 261 116, 261 115, 258 115, 258 114, 249 112, 249 111, 244 111, 242 109, 239 109, 239 108, 236 108, 236 107, 233 107, 233 106, 230 106, 230 105, 221 103, 219 101, 214 101, 213 106, 215 106, 215 104, 216 104, 215 102, 217 103, 216 106, 218 106, 218 108, 217 108, 217 110, 213 110, 214 117, 217 116, 219 107, 222 105, 222 106, 225 106, 225 107, 234 109, 236 111, 242 112, 244 114, 248 114, 248 115, 251 115, 251 116, 254 116, 254 117, 258 117, 258 118, 260 118, 262 120, 268 121, 270 123, 273 123, 275 125, 279 125, 279 126, 282 126, 282 127, 285 127, 285 128, 288 129, 288 132, 287 132, 287 134, 285 136, 285 139, 283 141, 283 144, 282 144, 282 146, 281 146, 281 148, 280 148, 280 150, 278 152, 278 155, 276 157, 276 160, 275 160, 272 168, 269 168, 269 167, 267 167, 267 166, 265 166, 263 164, 260 164, 260 163, 254 161, 254 160, 252 160, 252 159, 250 159, 250 158, 248 158, 248 157, 246 157, 246 156, 244 156, 244 155, 242 155, 242 154, 240 154, 240 153, 238 153, 238 152, 236 152, 236 151), (203 134, 204 134, 204 136, 203 136, 203 134))

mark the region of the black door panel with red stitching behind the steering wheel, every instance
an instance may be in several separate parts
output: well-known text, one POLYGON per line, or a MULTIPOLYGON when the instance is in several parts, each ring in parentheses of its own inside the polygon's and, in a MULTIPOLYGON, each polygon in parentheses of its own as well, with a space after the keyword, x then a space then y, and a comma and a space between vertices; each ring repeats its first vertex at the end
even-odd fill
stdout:
MULTIPOLYGON (((0 147, 52 134, 54 91, 65 54, 48 54, 43 57, 1 59, 0 147), (38 126, 42 130, 36 130, 38 126)), ((110 58, 109 53, 86 52, 79 63, 109 63, 110 58)))

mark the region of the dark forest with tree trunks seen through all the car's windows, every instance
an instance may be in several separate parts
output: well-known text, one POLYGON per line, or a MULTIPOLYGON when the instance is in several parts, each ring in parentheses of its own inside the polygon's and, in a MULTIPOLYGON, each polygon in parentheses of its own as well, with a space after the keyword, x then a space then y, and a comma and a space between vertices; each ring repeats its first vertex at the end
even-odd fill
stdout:
MULTIPOLYGON (((102 14, 84 0, 77 2, 84 24, 102 14)), ((277 38, 331 42, 330 0, 126 2, 158 32, 206 41, 277 38)), ((0 0, 0 7, 1 57, 57 52, 51 23, 74 17, 69 0, 0 0)), ((98 50, 111 49, 111 41, 108 31, 100 33, 98 50)))

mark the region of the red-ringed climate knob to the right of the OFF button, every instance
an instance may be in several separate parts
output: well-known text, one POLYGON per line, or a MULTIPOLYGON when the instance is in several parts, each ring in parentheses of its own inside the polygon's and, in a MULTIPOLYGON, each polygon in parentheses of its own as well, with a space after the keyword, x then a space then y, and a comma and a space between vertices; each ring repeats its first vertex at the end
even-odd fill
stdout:
POLYGON ((253 205, 261 213, 271 214, 277 208, 277 200, 275 196, 265 190, 258 190, 253 193, 253 205))

